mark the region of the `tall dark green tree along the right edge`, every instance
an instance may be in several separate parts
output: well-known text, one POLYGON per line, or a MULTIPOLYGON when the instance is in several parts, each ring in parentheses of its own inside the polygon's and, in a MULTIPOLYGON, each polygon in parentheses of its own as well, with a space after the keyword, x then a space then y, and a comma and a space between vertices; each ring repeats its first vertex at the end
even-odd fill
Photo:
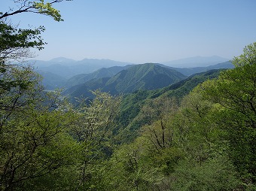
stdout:
MULTIPOLYGON (((233 59, 236 68, 204 83, 204 96, 216 103, 215 119, 224 130, 229 155, 243 182, 256 182, 256 43, 233 59)), ((252 189, 253 189, 252 188, 252 189)))

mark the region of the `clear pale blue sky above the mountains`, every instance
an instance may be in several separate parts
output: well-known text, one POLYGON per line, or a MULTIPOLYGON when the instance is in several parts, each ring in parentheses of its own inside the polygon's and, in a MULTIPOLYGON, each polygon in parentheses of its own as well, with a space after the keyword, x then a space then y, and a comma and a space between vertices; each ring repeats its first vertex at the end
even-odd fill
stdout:
MULTIPOLYGON (((1 0, 0 11, 16 8, 1 0)), ((12 16, 20 27, 45 26, 35 59, 167 62, 192 56, 233 59, 256 41, 255 0, 73 0, 53 6, 64 22, 12 16)))

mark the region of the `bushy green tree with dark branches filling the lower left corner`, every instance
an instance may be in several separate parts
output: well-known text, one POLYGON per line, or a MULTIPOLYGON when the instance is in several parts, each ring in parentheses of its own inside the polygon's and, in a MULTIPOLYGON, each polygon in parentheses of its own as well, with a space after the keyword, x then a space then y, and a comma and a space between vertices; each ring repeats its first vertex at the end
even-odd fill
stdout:
POLYGON ((57 107, 61 104, 58 99, 43 96, 39 103, 39 98, 36 103, 26 102, 22 113, 15 112, 2 124, 0 187, 3 190, 22 188, 29 180, 72 161, 75 142, 66 132, 74 117, 69 108, 57 107))

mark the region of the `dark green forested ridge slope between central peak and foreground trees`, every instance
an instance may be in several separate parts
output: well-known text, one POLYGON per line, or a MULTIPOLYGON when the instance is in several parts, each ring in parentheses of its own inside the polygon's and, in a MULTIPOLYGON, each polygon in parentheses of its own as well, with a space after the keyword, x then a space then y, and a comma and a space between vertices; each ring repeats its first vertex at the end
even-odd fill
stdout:
POLYGON ((195 86, 203 81, 218 77, 222 69, 206 71, 200 74, 194 74, 178 83, 171 84, 161 89, 140 90, 123 97, 120 107, 120 115, 118 116, 119 127, 115 132, 120 134, 122 141, 130 142, 139 135, 139 129, 144 125, 145 121, 139 117, 140 108, 145 105, 148 99, 156 99, 160 96, 176 97, 178 100, 187 95, 195 86))

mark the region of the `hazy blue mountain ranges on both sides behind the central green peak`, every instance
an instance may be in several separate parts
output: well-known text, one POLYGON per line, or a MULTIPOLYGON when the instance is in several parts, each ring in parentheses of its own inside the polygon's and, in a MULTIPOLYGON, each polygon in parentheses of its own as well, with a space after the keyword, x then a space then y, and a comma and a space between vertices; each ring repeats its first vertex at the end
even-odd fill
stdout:
MULTIPOLYGON (((163 68, 168 68, 172 69, 172 71, 178 71, 178 74, 180 74, 180 77, 183 79, 184 76, 190 76, 192 74, 196 74, 203 71, 209 71, 212 69, 233 68, 233 65, 231 64, 230 61, 222 62, 226 60, 227 59, 223 59, 219 56, 197 56, 188 59, 180 59, 176 61, 165 62, 165 65, 163 65, 163 63, 155 63, 153 65, 160 65, 162 68, 161 70, 163 70, 163 68), (173 65, 198 65, 198 67, 177 68, 173 67, 173 65)), ((95 80, 97 79, 100 80, 104 77, 111 78, 123 70, 136 66, 133 63, 118 62, 110 59, 83 59, 81 61, 75 61, 73 59, 66 59, 64 57, 51 59, 50 61, 35 60, 30 62, 35 62, 35 71, 38 71, 38 73, 44 77, 42 83, 46 87, 46 89, 56 89, 63 87, 70 88, 72 86, 87 83, 87 81, 89 80, 94 80, 93 83, 95 83, 95 80)), ((133 73, 136 74, 136 69, 133 70, 133 73)), ((139 74, 143 75, 143 72, 140 72, 139 74)), ((138 76, 138 74, 136 75, 138 79, 142 79, 138 76)), ((147 79, 148 80, 146 83, 148 84, 148 81, 150 81, 150 75, 148 75, 147 79)), ((161 79, 166 80, 167 78, 161 79)), ((154 79, 151 79, 151 83, 152 82, 154 82, 154 79)), ((140 82, 138 81, 138 83, 140 82)), ((165 84, 165 82, 162 81, 159 81, 158 83, 165 84)), ((127 85, 125 83, 120 84, 123 84, 122 86, 127 85)))

